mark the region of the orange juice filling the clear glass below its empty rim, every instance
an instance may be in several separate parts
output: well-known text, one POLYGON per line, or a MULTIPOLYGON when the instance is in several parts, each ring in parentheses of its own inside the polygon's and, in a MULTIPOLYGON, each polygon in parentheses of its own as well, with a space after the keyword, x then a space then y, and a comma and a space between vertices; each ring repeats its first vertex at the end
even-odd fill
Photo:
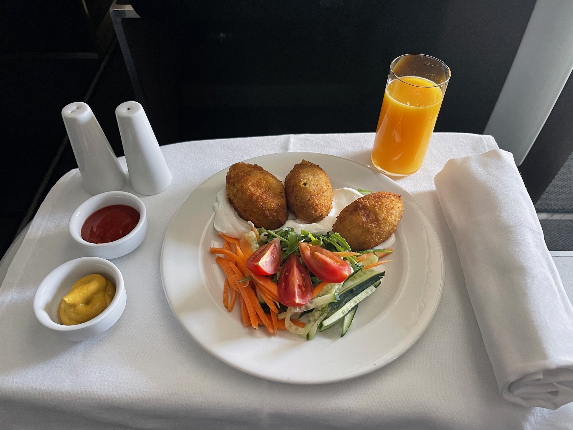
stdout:
POLYGON ((417 76, 401 76, 386 85, 372 148, 372 163, 379 170, 402 176, 422 166, 444 99, 436 85, 417 76))

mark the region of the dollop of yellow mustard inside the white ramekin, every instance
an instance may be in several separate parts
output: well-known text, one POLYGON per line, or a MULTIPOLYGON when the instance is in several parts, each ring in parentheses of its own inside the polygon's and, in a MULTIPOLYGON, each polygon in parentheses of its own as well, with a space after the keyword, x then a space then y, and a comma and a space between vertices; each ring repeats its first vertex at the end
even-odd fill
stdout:
POLYGON ((81 324, 101 314, 115 296, 115 284, 92 273, 76 281, 58 306, 58 319, 65 326, 81 324))

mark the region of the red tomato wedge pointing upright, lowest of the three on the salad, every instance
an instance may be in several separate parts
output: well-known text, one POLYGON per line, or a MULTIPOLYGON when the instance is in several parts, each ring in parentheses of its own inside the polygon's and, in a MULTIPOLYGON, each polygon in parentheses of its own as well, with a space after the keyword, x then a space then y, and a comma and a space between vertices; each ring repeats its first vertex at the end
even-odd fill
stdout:
POLYGON ((300 306, 307 304, 311 296, 311 275, 300 262, 299 256, 292 254, 286 259, 278 275, 278 301, 285 306, 300 306))

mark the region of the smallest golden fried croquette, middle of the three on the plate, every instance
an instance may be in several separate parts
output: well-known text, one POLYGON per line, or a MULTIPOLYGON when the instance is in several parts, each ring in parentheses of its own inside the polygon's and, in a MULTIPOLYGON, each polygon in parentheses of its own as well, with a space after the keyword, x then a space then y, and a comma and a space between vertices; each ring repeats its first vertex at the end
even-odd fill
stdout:
POLYGON ((304 222, 319 222, 332 209, 332 184, 319 165, 301 161, 286 175, 288 209, 304 222))

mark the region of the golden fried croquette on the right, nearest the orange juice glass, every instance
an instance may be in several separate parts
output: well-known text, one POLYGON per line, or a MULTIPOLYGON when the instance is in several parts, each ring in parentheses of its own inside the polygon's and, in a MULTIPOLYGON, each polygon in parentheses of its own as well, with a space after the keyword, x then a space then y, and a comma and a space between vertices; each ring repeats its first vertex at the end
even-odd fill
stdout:
POLYGON ((396 231, 404 212, 402 197, 378 191, 344 208, 332 230, 344 237, 352 251, 374 248, 396 231))

